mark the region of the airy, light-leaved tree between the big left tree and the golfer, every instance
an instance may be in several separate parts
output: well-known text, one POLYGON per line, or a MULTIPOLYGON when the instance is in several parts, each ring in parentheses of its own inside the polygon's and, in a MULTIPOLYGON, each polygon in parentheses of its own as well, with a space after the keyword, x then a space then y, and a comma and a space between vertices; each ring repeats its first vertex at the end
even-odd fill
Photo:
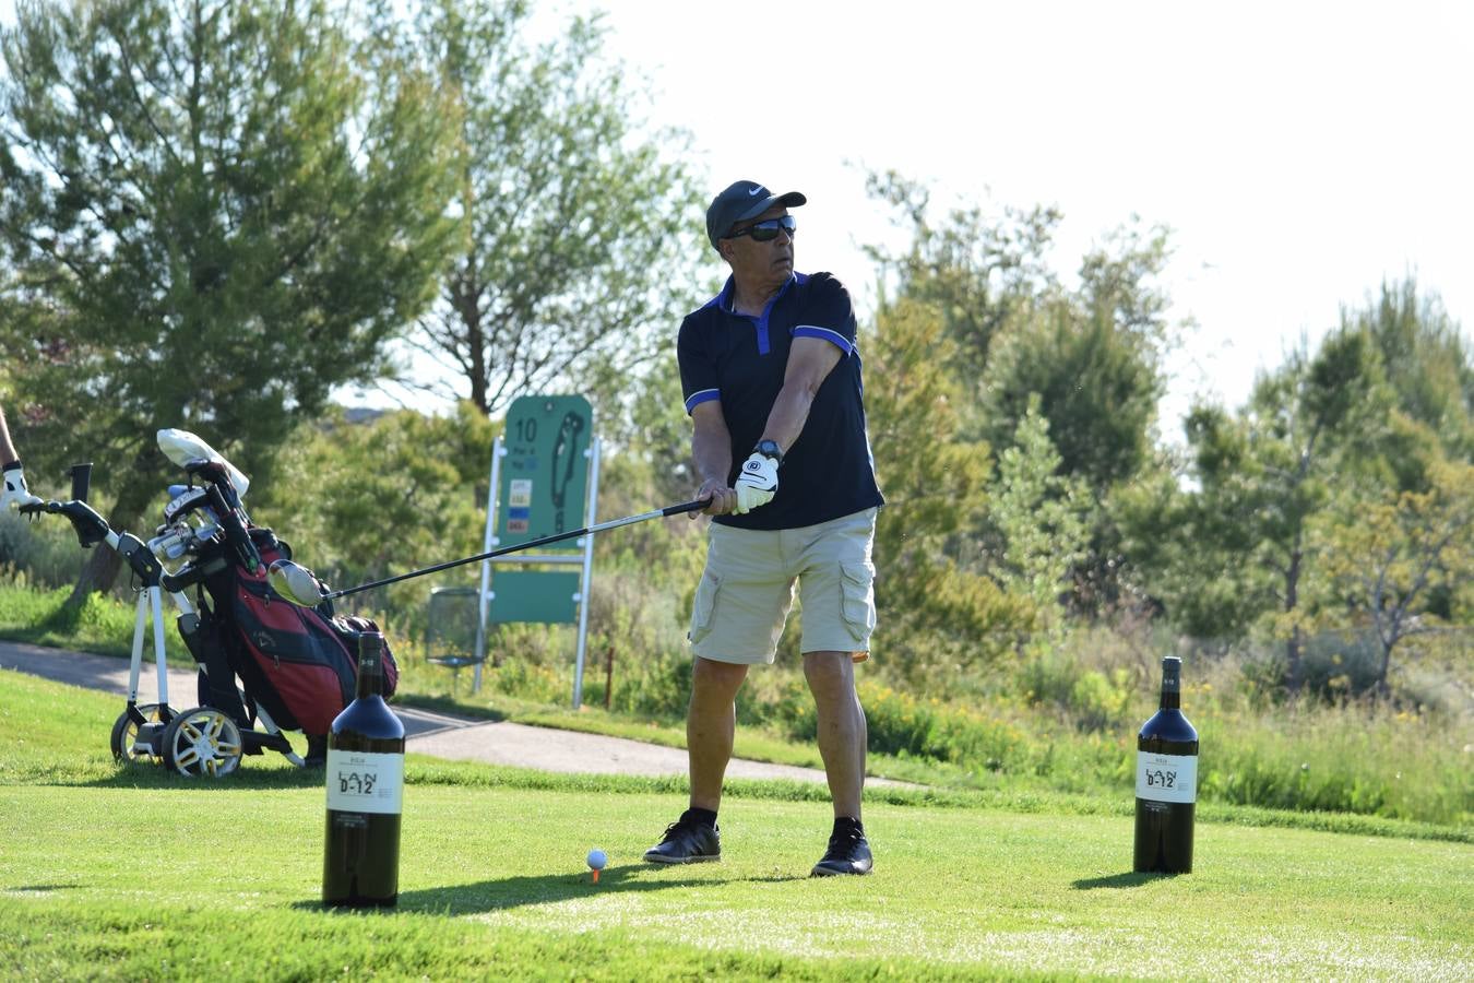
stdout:
POLYGON ((671 311, 694 307, 705 239, 684 137, 644 131, 603 28, 575 19, 532 46, 531 4, 429 0, 389 31, 455 102, 461 231, 414 345, 482 413, 516 395, 624 377, 650 361, 671 311))

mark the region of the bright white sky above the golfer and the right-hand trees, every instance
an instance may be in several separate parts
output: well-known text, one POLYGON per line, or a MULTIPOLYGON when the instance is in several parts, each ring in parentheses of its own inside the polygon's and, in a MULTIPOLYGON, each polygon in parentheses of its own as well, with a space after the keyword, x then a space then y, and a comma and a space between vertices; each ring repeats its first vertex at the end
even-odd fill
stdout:
MULTIPOLYGON (((607 0, 609 49, 694 136, 712 193, 809 196, 797 267, 873 276, 892 230, 867 169, 936 199, 1054 203, 1064 271, 1132 214, 1175 230, 1164 284, 1194 392, 1256 368, 1415 273, 1474 333, 1474 4, 607 0)), ((893 240, 901 245, 902 240, 893 240)))

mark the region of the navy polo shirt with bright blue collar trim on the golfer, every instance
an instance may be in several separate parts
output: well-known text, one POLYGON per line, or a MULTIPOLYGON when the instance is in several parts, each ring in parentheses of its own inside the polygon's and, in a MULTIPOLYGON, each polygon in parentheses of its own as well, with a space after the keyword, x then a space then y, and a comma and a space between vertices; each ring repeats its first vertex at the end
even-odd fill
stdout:
POLYGON ((828 273, 793 274, 762 317, 736 314, 733 280, 681 321, 677 358, 685 411, 719 399, 737 469, 762 439, 783 389, 794 337, 822 337, 843 352, 824 377, 803 432, 778 469, 778 494, 746 516, 718 516, 738 529, 799 529, 883 504, 865 433, 864 385, 855 348, 855 307, 828 273))

